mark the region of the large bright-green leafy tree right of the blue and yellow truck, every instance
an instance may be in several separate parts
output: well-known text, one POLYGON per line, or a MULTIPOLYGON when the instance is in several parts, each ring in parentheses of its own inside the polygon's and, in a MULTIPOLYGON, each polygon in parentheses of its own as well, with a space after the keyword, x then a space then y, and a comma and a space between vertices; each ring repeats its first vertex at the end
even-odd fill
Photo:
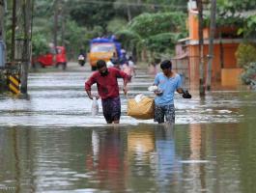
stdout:
POLYGON ((175 43, 186 36, 185 18, 182 13, 140 14, 116 35, 138 54, 147 50, 150 55, 170 55, 175 43))

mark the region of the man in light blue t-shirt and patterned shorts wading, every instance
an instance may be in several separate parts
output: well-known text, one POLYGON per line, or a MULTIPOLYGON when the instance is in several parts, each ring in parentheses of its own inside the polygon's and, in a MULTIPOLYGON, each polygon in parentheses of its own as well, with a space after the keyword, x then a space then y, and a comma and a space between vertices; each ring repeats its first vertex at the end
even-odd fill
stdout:
POLYGON ((155 122, 164 123, 164 117, 169 124, 175 123, 174 93, 177 91, 185 98, 190 94, 182 89, 180 74, 172 71, 172 63, 169 60, 160 63, 162 72, 156 74, 154 84, 158 87, 155 92, 155 122))

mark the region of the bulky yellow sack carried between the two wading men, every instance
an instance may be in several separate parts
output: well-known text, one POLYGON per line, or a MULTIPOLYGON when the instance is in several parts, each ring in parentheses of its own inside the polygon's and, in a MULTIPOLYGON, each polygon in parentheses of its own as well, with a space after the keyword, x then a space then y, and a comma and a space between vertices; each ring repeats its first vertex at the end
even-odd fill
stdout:
POLYGON ((134 98, 128 99, 128 116, 138 120, 150 120, 154 119, 154 113, 154 98, 144 96, 139 102, 134 98))

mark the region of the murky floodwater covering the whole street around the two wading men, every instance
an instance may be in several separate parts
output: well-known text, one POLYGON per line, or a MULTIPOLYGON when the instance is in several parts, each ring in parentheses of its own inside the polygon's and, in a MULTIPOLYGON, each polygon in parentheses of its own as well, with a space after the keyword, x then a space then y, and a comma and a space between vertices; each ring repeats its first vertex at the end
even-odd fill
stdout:
MULTIPOLYGON (((91 115, 90 73, 31 73, 29 99, 0 96, 0 192, 256 192, 255 92, 177 94, 174 126, 126 116, 122 95, 110 125, 91 115)), ((128 97, 152 82, 139 71, 128 97)))

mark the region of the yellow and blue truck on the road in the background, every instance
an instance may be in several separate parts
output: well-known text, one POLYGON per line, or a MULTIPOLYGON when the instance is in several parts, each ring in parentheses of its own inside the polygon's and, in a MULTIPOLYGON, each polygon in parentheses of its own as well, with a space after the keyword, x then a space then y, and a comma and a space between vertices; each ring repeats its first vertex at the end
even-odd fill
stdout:
POLYGON ((113 38, 97 38, 90 41, 90 51, 88 53, 88 61, 92 70, 96 70, 96 63, 99 60, 109 61, 116 55, 121 56, 121 43, 113 38))

